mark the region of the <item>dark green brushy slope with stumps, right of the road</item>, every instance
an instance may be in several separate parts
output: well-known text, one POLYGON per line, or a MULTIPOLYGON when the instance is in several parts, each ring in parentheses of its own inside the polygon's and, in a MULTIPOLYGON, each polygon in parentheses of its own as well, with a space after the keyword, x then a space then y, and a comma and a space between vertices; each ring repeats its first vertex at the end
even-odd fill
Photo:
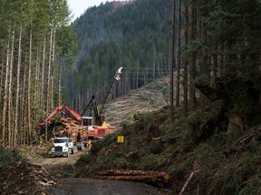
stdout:
POLYGON ((188 117, 178 107, 174 125, 169 107, 140 114, 133 124, 94 142, 77 161, 76 176, 108 169, 169 172, 166 187, 179 194, 194 172, 184 194, 261 194, 261 125, 228 131, 222 106, 217 101, 195 107, 188 117), (123 144, 117 143, 119 135, 123 144))

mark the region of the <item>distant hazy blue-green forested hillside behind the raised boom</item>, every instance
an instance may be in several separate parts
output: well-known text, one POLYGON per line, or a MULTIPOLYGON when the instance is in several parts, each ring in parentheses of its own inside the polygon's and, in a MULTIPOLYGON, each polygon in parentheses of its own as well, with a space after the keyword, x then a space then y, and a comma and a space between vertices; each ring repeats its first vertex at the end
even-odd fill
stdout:
POLYGON ((64 101, 78 102, 78 97, 84 105, 96 94, 102 103, 120 67, 126 71, 116 97, 168 75, 170 7, 168 0, 136 0, 87 9, 72 24, 78 43, 74 63, 63 72, 64 101))

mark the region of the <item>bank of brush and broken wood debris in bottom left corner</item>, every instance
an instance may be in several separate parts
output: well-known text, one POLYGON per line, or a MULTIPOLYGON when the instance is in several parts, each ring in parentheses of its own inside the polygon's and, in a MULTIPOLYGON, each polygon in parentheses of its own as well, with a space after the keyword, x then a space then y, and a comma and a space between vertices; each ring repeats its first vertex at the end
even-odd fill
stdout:
POLYGON ((0 194, 49 194, 57 183, 40 165, 28 163, 16 150, 0 151, 0 194))

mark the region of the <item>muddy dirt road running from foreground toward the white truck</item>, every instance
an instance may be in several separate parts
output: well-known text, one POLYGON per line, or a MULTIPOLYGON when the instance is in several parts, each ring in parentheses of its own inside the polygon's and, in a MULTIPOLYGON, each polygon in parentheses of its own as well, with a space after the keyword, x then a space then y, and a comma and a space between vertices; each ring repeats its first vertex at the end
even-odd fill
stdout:
POLYGON ((50 157, 36 162, 42 165, 58 181, 57 186, 49 188, 53 195, 167 195, 167 190, 160 190, 150 185, 131 181, 106 181, 89 178, 74 178, 74 163, 82 153, 70 157, 50 157))

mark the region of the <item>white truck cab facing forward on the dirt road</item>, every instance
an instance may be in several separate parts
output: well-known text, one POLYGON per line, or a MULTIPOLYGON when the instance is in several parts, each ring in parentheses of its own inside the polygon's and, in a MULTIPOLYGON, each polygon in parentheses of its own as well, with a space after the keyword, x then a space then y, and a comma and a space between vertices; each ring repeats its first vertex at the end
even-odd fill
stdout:
POLYGON ((68 137, 54 137, 53 139, 53 156, 67 156, 70 154, 77 153, 77 146, 73 145, 72 138, 68 137))

